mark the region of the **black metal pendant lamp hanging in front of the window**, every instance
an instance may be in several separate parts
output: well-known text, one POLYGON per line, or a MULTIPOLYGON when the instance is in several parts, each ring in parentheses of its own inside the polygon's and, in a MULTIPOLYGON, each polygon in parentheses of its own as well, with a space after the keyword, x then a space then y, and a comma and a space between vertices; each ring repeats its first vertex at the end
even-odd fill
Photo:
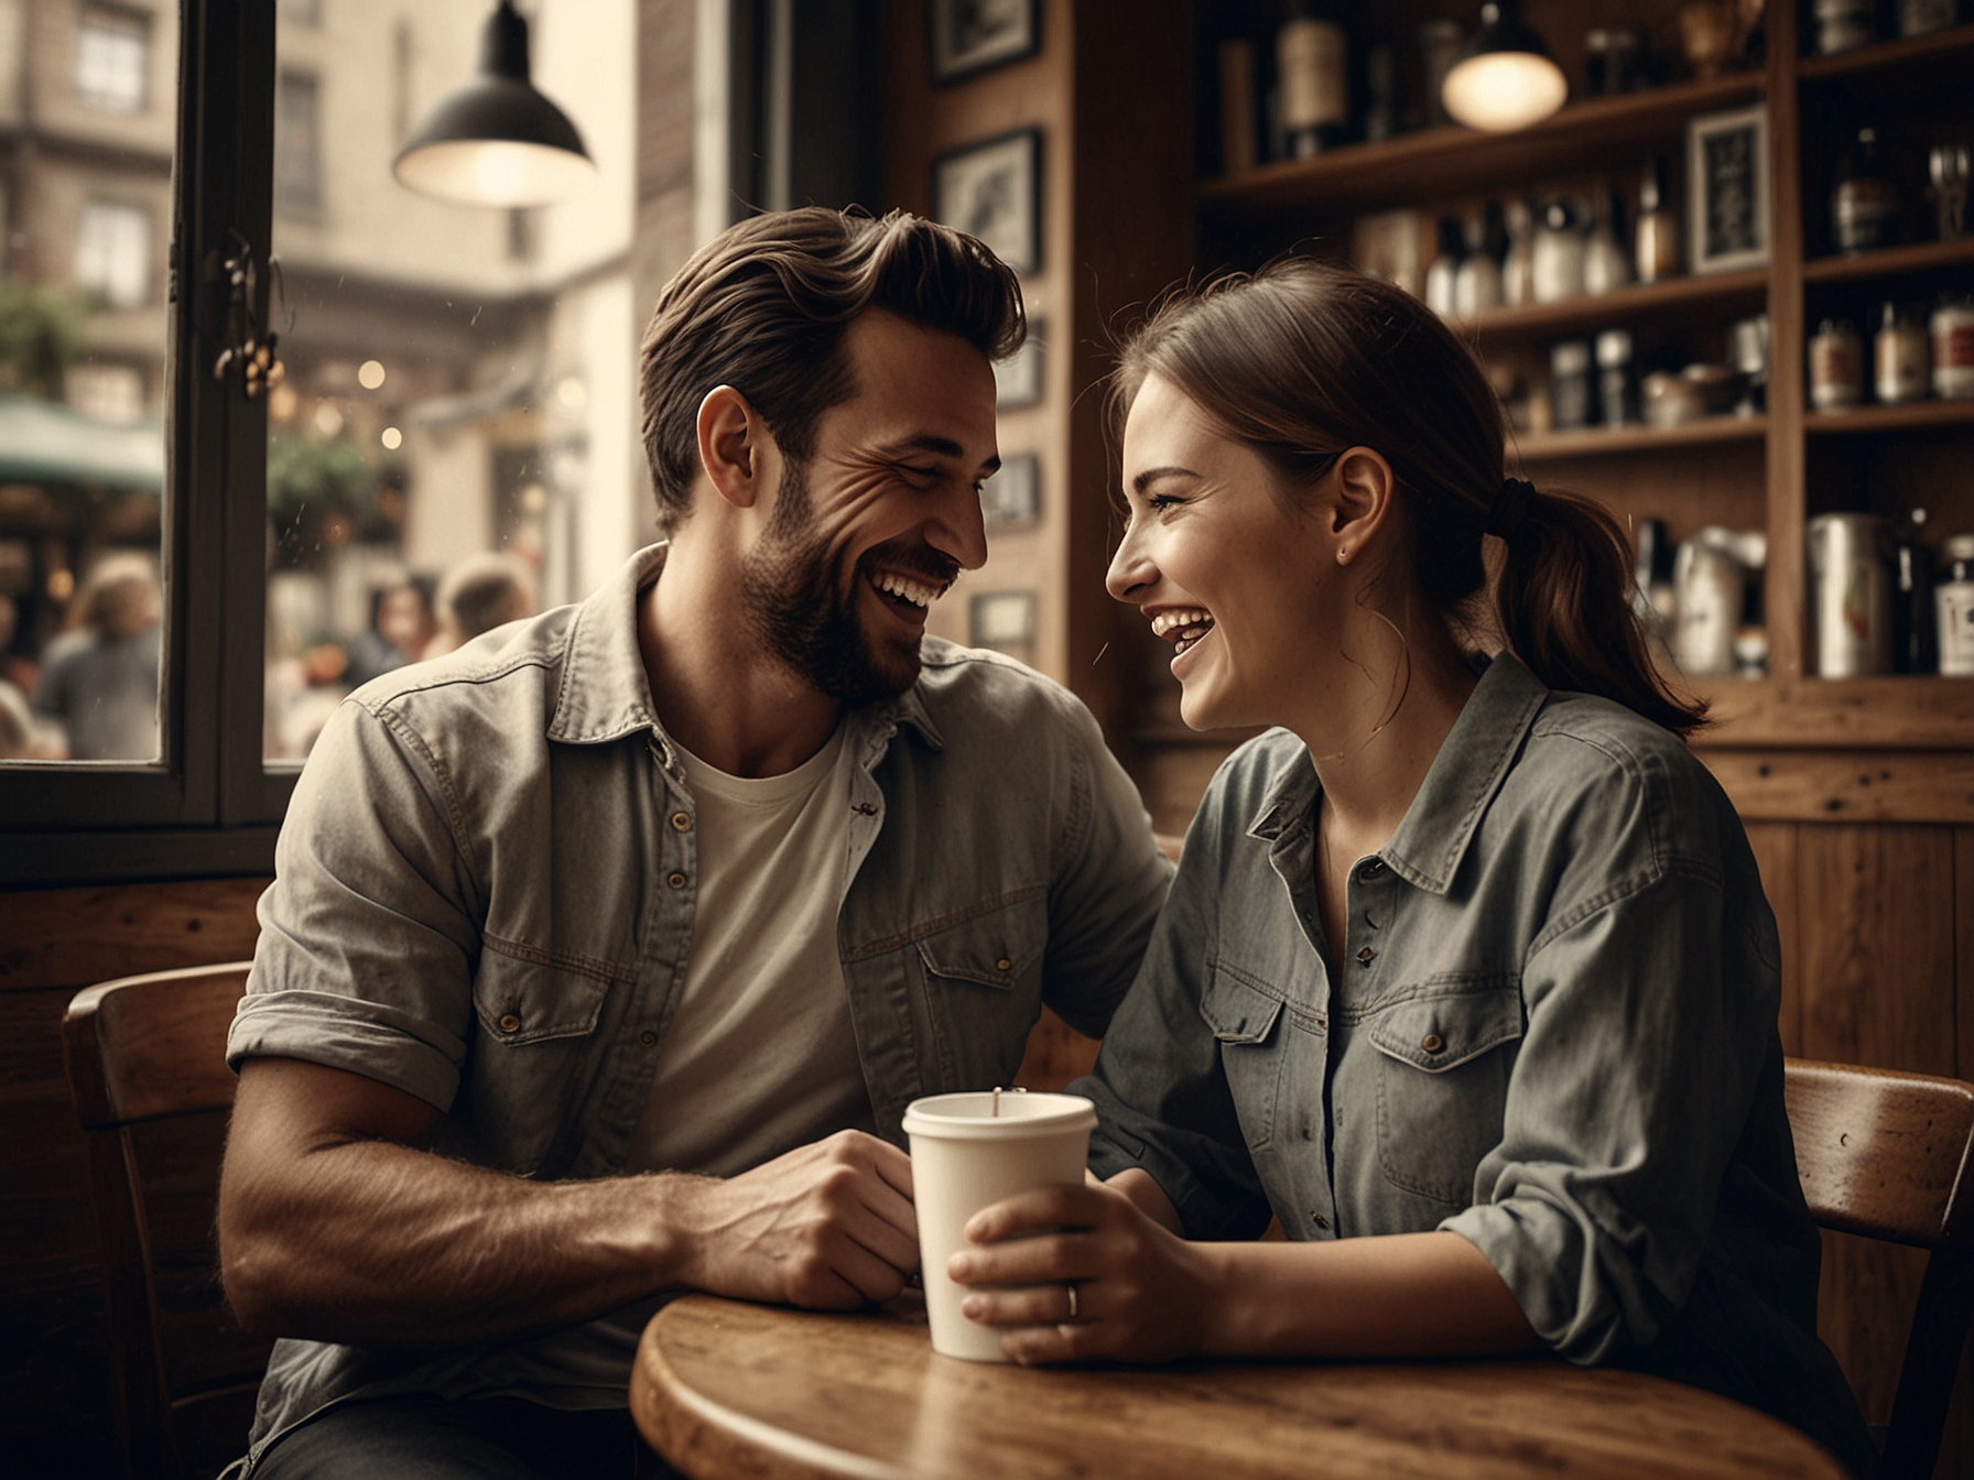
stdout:
POLYGON ((527 20, 513 0, 488 16, 480 71, 411 132, 391 174, 458 205, 551 205, 596 178, 582 134, 527 79, 527 20))

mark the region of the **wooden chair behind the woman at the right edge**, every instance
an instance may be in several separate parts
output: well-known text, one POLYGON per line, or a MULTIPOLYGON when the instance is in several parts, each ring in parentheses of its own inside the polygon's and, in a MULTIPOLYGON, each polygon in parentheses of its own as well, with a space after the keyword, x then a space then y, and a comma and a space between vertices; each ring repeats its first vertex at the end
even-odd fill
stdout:
POLYGON ((1931 1480, 1974 1316, 1974 1085, 1788 1060, 1788 1125, 1824 1227, 1931 1249, 1885 1431, 1885 1480, 1931 1480))

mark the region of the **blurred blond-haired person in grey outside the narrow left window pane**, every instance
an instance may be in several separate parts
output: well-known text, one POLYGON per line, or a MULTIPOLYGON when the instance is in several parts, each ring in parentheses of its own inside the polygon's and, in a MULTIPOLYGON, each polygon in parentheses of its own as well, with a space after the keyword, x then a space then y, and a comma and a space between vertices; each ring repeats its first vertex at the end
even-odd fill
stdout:
POLYGON ((158 637, 164 592, 148 556, 107 555, 41 653, 38 714, 57 722, 67 760, 158 754, 158 637))

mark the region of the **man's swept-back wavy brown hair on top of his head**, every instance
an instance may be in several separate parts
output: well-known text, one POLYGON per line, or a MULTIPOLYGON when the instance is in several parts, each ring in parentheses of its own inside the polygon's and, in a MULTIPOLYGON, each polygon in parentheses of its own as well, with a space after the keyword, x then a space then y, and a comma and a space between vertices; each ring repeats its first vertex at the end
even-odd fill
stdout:
POLYGON ((675 529, 699 476, 699 403, 748 399, 792 462, 815 420, 857 395, 843 335, 880 308, 1005 359, 1028 333, 1021 282, 963 231, 906 211, 882 219, 807 205, 756 215, 701 247, 665 284, 640 351, 644 448, 657 523, 675 529))

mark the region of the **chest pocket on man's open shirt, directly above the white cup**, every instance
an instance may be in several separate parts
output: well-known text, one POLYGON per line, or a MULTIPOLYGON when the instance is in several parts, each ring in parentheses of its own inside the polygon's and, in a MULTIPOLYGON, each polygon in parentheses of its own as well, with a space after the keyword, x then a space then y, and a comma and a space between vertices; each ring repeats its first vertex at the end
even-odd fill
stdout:
POLYGON ((946 1089, 1013 1083, 1042 1012, 1048 898, 985 910, 912 943, 946 1089))

